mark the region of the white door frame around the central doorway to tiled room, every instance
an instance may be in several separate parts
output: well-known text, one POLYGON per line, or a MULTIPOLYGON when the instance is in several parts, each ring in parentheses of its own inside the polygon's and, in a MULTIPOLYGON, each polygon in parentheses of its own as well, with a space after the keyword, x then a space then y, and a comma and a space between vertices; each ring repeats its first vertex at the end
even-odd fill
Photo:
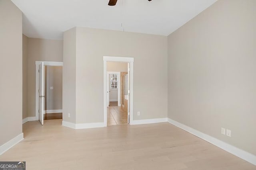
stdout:
POLYGON ((130 124, 133 122, 133 57, 110 57, 103 56, 103 103, 104 103, 104 126, 107 126, 107 61, 121 62, 130 64, 130 97, 129 97, 129 111, 130 124))

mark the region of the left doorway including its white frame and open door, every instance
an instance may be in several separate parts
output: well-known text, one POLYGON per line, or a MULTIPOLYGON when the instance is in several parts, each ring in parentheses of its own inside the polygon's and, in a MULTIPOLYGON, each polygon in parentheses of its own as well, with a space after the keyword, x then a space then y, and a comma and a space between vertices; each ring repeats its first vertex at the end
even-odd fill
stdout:
POLYGON ((62 62, 36 61, 36 119, 62 119, 62 62))

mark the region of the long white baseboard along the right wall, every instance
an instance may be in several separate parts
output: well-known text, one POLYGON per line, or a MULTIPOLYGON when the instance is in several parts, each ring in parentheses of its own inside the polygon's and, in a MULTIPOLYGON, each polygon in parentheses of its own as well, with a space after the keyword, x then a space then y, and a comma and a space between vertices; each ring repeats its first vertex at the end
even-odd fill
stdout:
POLYGON ((221 149, 223 149, 223 150, 226 150, 227 152, 230 152, 231 154, 234 154, 234 155, 238 156, 239 158, 242 158, 242 159, 246 160, 247 162, 250 162, 251 164, 256 165, 256 155, 254 155, 254 154, 251 154, 251 153, 246 152, 242 149, 234 147, 234 146, 232 146, 228 143, 220 141, 219 139, 216 139, 216 138, 214 138, 210 135, 206 135, 206 134, 204 134, 204 133, 202 133, 202 132, 200 132, 196 129, 193 129, 191 127, 183 125, 182 123, 179 123, 179 122, 174 121, 172 119, 168 118, 168 122, 175 125, 176 127, 179 127, 181 129, 183 129, 183 130, 185 130, 185 131, 187 131, 187 132, 189 132, 189 133, 191 133, 191 134, 193 134, 193 135, 195 135, 195 136, 197 136, 197 137, 199 137, 199 138, 201 138, 201 139, 203 139, 203 140, 205 140, 205 141, 207 141, 207 142, 209 142, 209 143, 211 143, 211 144, 213 144, 213 145, 215 145, 215 146, 217 146, 221 149))

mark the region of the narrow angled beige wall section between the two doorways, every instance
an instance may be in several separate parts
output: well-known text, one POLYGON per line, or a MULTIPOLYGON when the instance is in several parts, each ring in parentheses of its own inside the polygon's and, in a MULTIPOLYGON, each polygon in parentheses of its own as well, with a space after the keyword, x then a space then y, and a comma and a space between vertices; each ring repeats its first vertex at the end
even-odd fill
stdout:
POLYGON ((63 121, 76 123, 76 28, 65 31, 63 39, 62 118, 63 121))

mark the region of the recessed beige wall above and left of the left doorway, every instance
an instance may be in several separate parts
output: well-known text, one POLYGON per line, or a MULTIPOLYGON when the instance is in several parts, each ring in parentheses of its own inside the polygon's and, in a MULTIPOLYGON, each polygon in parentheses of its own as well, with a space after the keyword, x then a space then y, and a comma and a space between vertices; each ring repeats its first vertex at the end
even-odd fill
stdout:
POLYGON ((36 116, 35 61, 62 61, 63 41, 28 38, 28 116, 36 116))

